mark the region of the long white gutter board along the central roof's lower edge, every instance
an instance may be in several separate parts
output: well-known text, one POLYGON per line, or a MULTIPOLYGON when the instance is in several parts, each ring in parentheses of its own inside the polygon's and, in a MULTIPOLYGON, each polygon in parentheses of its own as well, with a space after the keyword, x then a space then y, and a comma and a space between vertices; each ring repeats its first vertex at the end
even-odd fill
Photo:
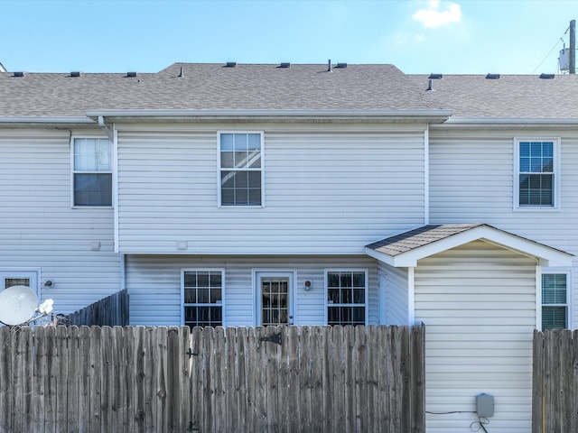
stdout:
POLYGON ((185 120, 192 118, 232 119, 370 119, 373 121, 420 121, 443 123, 452 115, 451 110, 89 110, 87 116, 114 119, 138 118, 152 120, 185 120))

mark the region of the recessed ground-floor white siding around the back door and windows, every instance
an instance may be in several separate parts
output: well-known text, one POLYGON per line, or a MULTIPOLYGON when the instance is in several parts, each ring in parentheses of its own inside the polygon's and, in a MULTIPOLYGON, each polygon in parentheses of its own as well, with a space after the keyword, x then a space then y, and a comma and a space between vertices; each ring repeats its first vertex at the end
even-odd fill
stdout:
POLYGON ((368 321, 377 324, 377 265, 367 256, 182 256, 127 255, 126 288, 130 295, 131 325, 181 324, 181 270, 225 270, 225 325, 254 326, 256 295, 253 270, 295 272, 295 325, 323 325, 325 269, 368 269, 368 321), (304 281, 312 289, 304 290, 304 281))

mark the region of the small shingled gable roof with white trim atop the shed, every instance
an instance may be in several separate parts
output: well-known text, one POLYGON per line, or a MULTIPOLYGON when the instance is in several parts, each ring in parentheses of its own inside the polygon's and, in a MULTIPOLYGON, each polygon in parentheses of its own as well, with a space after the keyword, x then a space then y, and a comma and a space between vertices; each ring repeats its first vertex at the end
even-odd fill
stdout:
POLYGON ((486 224, 421 226, 369 244, 366 253, 394 267, 415 267, 420 259, 478 240, 536 258, 542 266, 572 266, 571 253, 486 224))

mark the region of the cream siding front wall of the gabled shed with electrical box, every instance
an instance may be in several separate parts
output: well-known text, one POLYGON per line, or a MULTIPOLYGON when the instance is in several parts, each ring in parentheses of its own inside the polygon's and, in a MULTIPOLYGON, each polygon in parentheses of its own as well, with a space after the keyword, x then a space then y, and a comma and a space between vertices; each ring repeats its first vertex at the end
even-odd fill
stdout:
MULTIPOLYGON (((426 410, 472 412, 486 392, 489 431, 530 431, 535 260, 476 241, 419 261, 415 318, 426 329, 426 410)), ((475 419, 428 414, 427 431, 470 431, 475 419)))

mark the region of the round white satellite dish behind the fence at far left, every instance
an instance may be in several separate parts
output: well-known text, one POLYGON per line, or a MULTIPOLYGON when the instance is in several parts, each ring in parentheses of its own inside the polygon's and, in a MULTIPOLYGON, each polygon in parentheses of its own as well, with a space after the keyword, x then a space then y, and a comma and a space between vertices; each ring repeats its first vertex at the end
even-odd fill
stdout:
POLYGON ((33 317, 38 297, 28 286, 12 286, 0 291, 0 322, 21 325, 33 317))

